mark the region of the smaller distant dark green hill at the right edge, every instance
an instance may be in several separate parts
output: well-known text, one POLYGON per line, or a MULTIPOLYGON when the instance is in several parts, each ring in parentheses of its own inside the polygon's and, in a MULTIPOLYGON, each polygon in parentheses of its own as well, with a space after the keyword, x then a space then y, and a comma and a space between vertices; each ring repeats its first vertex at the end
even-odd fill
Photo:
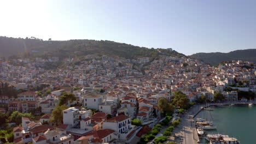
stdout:
POLYGON ((191 57, 201 59, 205 63, 211 65, 219 65, 223 61, 241 60, 256 63, 256 49, 236 50, 228 53, 211 52, 211 53, 195 53, 191 57))

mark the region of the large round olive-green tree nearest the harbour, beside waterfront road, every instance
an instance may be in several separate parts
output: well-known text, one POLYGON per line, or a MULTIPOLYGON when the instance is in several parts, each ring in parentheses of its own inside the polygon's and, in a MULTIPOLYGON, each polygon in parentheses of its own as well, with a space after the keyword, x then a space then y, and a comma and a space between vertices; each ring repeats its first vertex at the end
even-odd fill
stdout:
POLYGON ((172 99, 172 104, 180 108, 186 108, 189 105, 189 99, 181 91, 176 91, 172 99))

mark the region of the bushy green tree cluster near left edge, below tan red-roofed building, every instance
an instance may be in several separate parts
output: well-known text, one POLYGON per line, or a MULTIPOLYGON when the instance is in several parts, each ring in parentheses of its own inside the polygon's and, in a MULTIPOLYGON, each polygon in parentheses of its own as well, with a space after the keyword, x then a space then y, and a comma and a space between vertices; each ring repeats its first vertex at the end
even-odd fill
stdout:
POLYGON ((10 117, 8 118, 8 121, 19 125, 22 122, 22 117, 34 119, 34 116, 31 113, 21 113, 18 111, 14 111, 13 113, 11 113, 10 117))

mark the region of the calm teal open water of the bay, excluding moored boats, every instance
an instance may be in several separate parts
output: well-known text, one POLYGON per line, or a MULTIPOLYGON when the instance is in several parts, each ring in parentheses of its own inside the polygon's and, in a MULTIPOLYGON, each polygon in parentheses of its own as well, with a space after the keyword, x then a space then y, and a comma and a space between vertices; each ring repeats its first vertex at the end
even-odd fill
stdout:
POLYGON ((214 107, 213 111, 201 111, 196 118, 210 118, 217 126, 217 130, 207 130, 207 134, 229 135, 242 144, 256 143, 256 105, 214 107))

